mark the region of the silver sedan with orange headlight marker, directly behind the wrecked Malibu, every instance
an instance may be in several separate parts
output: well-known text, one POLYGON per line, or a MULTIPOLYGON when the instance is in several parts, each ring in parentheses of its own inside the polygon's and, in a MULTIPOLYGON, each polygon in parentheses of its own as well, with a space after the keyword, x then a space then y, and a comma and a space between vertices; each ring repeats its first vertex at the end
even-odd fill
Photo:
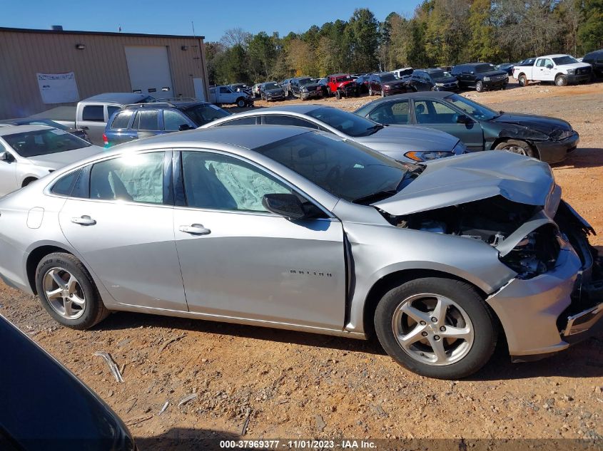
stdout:
POLYGON ((202 125, 293 125, 333 133, 360 142, 399 161, 422 162, 467 152, 459 138, 414 125, 381 125, 339 108, 324 105, 283 105, 247 111, 202 125))

